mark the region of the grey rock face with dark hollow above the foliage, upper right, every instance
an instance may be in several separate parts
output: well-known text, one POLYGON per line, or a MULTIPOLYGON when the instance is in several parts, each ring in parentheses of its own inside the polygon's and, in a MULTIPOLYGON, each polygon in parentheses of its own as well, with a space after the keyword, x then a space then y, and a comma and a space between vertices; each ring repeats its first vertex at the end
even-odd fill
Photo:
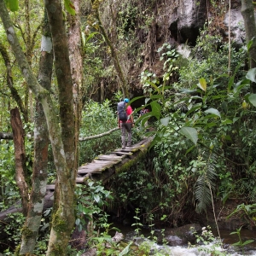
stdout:
MULTIPOLYGON (((229 31, 229 12, 227 4, 219 3, 220 6, 210 8, 210 4, 205 0, 168 0, 166 4, 162 4, 158 15, 156 16, 156 25, 160 35, 166 31, 170 32, 169 41, 177 44, 186 42, 195 45, 196 38, 200 29, 209 20, 216 22, 221 28, 223 36, 228 38, 229 31), (219 11, 219 9, 222 9, 219 11), (215 13, 212 13, 215 12, 215 13), (215 20, 215 21, 214 21, 215 20)), ((241 3, 234 1, 230 10, 230 31, 231 39, 236 44, 242 44, 244 36, 243 19, 241 16, 241 3)))

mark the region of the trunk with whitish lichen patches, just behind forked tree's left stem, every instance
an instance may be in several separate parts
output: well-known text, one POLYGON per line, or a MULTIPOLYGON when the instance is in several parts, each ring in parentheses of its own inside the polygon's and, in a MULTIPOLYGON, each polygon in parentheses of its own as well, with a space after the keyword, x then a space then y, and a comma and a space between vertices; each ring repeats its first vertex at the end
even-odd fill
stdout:
MULTIPOLYGON (((51 38, 47 35, 50 35, 50 30, 45 11, 38 80, 45 89, 49 90, 52 77, 53 52, 51 38)), ((38 238, 38 230, 41 224, 47 184, 49 136, 44 116, 44 109, 39 102, 36 103, 36 114, 34 120, 35 132, 32 192, 26 222, 22 231, 20 255, 32 253, 34 250, 36 240, 38 238)))

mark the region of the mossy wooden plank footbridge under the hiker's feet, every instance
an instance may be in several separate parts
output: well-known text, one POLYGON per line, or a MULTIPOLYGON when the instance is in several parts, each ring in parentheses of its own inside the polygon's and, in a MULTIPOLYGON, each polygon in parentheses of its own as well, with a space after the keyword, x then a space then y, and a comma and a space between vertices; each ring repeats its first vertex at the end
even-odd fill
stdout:
MULTIPOLYGON (((88 178, 102 180, 104 183, 114 174, 128 170, 147 153, 152 140, 153 137, 148 137, 131 147, 117 148, 113 152, 97 156, 90 163, 79 167, 76 183, 85 183, 88 178)), ((46 190, 55 190, 55 184, 47 185, 46 190)))

